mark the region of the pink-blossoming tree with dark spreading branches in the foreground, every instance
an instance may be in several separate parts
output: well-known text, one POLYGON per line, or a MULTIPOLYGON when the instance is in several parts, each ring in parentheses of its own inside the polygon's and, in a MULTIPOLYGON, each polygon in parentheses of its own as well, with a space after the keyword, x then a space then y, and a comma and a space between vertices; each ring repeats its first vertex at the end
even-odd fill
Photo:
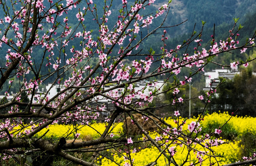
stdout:
MULTIPOLYGON (((218 162, 218 156, 211 147, 223 143, 212 137, 214 132, 220 134, 221 129, 213 129, 212 133, 201 136, 200 122, 205 109, 196 122, 185 124, 185 121, 177 120, 175 127, 151 112, 152 108, 148 107, 148 103, 152 102, 154 96, 163 93, 163 86, 158 87, 159 81, 155 78, 162 75, 166 78, 173 77, 176 84, 168 90, 176 95, 179 92, 177 86, 191 82, 192 77, 204 71, 207 64, 215 63, 217 55, 221 56, 234 49, 243 53, 247 48, 253 47, 255 34, 238 45, 238 31, 241 27, 237 29, 234 26, 225 41, 215 41, 213 35, 209 46, 202 47, 201 32, 193 33, 188 40, 168 50, 165 41, 168 40, 166 34, 171 27, 165 27, 164 23, 171 1, 166 1, 152 14, 146 13, 146 9, 157 3, 156 0, 135 0, 134 3, 122 0, 118 16, 111 18, 115 22, 113 25, 108 24, 108 21, 112 16, 111 6, 116 3, 114 0, 105 1, 100 7, 93 0, 85 1, 86 3, 82 0, 0 0, 4 12, 0 20, 0 47, 2 54, 6 54, 6 64, 0 66, 0 87, 4 83, 9 83, 12 87, 13 81, 19 80, 19 90, 13 98, 0 105, 0 108, 8 108, 6 112, 0 113, 1 158, 11 157, 18 163, 28 165, 29 160, 24 156, 39 151, 83 166, 96 166, 95 161, 101 160, 97 157, 112 148, 118 154, 125 155, 125 165, 129 166, 136 162, 130 155, 132 146, 139 142, 150 142, 159 153, 155 160, 148 162, 148 166, 156 165, 160 156, 165 157, 167 165, 175 166, 201 164, 205 160, 210 160, 212 164, 218 162), (75 16, 69 15, 74 11, 75 16), (93 19, 86 20, 87 15, 91 15, 93 19), (72 24, 71 27, 70 22, 74 19, 77 24, 72 24), (162 23, 152 28, 157 19, 161 19, 162 23), (85 24, 86 21, 88 23, 85 24), (87 24, 95 24, 98 31, 88 30, 87 24), (156 33, 162 35, 162 40, 159 41, 163 43, 162 47, 157 52, 148 47, 149 53, 142 53, 140 46, 156 33), (192 55, 186 49, 191 43, 197 45, 192 55), (35 61, 38 57, 41 60, 35 61), (136 60, 129 60, 134 57, 136 60), (43 71, 45 66, 48 66, 48 71, 43 71), (186 77, 179 77, 183 68, 191 69, 191 73, 186 77), (49 83, 49 79, 52 80, 50 88, 38 94, 38 87, 49 83), (135 83, 140 82, 145 83, 145 86, 135 89, 135 83), (58 90, 52 96, 50 89, 54 87, 58 87, 58 90), (24 93, 29 98, 28 101, 24 100, 24 93), (101 103, 104 100, 111 101, 115 107, 106 109, 106 105, 101 103), (103 113, 107 114, 104 119, 107 123, 100 137, 75 141, 79 137, 79 128, 90 126, 103 113), (134 114, 145 120, 152 120, 158 126, 161 136, 151 137, 138 123, 138 119, 134 118, 134 114), (116 124, 126 123, 126 117, 130 117, 134 127, 145 135, 144 140, 135 140, 128 133, 113 133, 116 124), (55 123, 73 123, 76 127, 57 140, 45 137, 48 131, 43 136, 37 136, 38 132, 55 123), (184 125, 188 125, 188 130, 183 130, 184 125), (67 142, 72 136, 75 140, 67 142), (188 149, 183 163, 175 160, 176 146, 188 149), (198 146, 205 150, 199 150, 198 146), (83 160, 71 152, 94 153, 90 159, 83 160), (191 152, 197 154, 194 160, 189 158, 191 152)), ((251 60, 217 65, 236 69, 238 65, 247 66, 251 60)), ((209 102, 213 94, 214 89, 211 89, 206 95, 196 98, 209 102)), ((10 91, 7 90, 5 95, 6 98, 9 97, 10 91)), ((175 98, 171 104, 180 103, 183 103, 182 97, 175 98)), ((178 110, 171 112, 174 116, 180 115, 178 110)), ((111 156, 104 155, 104 158, 113 160, 111 156)), ((241 164, 243 162, 238 163, 241 164)))

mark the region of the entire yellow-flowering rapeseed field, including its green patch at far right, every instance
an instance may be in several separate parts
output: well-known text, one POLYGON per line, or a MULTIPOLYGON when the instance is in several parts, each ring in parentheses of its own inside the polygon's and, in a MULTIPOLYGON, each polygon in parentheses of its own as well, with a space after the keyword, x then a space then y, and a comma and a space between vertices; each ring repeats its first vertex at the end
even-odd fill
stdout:
MULTIPOLYGON (((223 139, 225 142, 222 145, 217 147, 213 147, 213 150, 217 152, 216 155, 220 157, 217 160, 221 160, 219 164, 228 164, 231 162, 235 162, 240 160, 244 155, 246 155, 246 149, 252 150, 255 149, 255 145, 251 142, 255 142, 256 140, 256 119, 252 117, 232 117, 230 119, 230 115, 228 113, 213 113, 208 114, 204 117, 204 120, 201 121, 200 125, 202 126, 201 133, 210 133, 214 132, 214 129, 222 127, 221 134, 219 138, 223 139), (229 120, 230 119, 230 120, 229 120), (229 120, 229 121, 228 121, 229 120), (228 121, 228 122, 227 122, 228 121), (226 123, 227 122, 227 123, 226 123), (248 143, 250 142, 250 143, 248 143), (248 147, 250 144, 250 147, 248 147)), ((177 120, 177 119, 176 119, 177 120)), ((182 121, 183 119, 179 119, 182 121)), ((168 118, 165 119, 167 123, 175 127, 177 124, 174 122, 174 119, 168 118)), ((187 119, 187 124, 192 121, 196 121, 196 118, 187 119)), ((100 134, 104 132, 107 123, 94 123, 91 125, 50 125, 48 128, 45 128, 41 132, 37 134, 37 137, 45 136, 51 139, 57 139, 60 137, 66 137, 67 139, 77 138, 81 141, 96 139, 100 137, 100 134), (46 131, 49 130, 47 133, 46 131), (46 134, 45 134, 46 133, 46 134)), ((118 123, 113 125, 112 128, 112 136, 120 136, 123 132, 122 123, 118 123)), ((184 125, 183 130, 187 130, 188 125, 184 125)), ((16 128, 17 130, 18 128, 16 128)), ((28 132, 29 129, 24 130, 24 132, 28 132)), ((150 136, 156 139, 160 134, 158 132, 149 132, 150 136)), ((141 140, 143 136, 137 137, 137 140, 141 140)), ((133 141, 135 138, 133 138, 133 141)), ((176 142, 177 143, 177 142, 176 142)), ((176 144, 177 145, 177 144, 176 144)), ((196 145, 197 146, 197 145, 196 145)), ((200 147, 196 147, 198 150, 205 150, 200 147)), ((170 145, 171 147, 171 145, 170 145)), ((130 158, 133 159, 134 164, 136 166, 144 166, 148 164, 150 161, 156 160, 159 155, 159 151, 156 147, 147 145, 145 148, 145 144, 129 145, 130 149, 130 158), (135 148, 135 149, 134 149, 135 148)), ((181 164, 186 157, 188 152, 188 148, 185 146, 176 146, 175 150, 177 153, 175 154, 175 160, 177 164, 181 164)), ((95 162, 101 166, 115 166, 116 163, 120 165, 124 165, 127 162, 126 153, 116 152, 115 149, 108 149, 107 153, 112 156, 112 159, 108 159, 102 156, 99 156, 95 162)), ((249 152, 248 152, 249 153, 249 152)), ((190 152, 190 159, 193 161, 196 158, 197 153, 194 151, 190 152)), ((206 158, 207 156, 205 156, 206 158)), ((216 160, 216 159, 214 159, 216 160)), ((158 159, 158 166, 165 166, 166 158, 161 155, 158 159)), ((203 162, 203 166, 209 166, 209 160, 203 162)))

